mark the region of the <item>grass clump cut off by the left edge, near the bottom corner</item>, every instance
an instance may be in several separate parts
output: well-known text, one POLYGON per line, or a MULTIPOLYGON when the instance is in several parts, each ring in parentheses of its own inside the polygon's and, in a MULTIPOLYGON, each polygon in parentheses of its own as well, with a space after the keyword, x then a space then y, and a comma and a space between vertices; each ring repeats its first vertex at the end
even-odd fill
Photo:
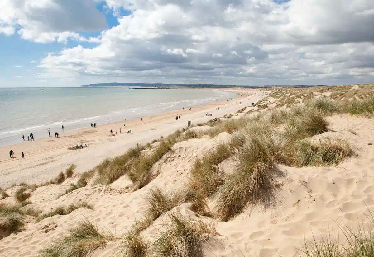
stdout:
POLYGON ((25 221, 20 206, 0 204, 0 229, 4 232, 18 232, 24 229, 25 221))

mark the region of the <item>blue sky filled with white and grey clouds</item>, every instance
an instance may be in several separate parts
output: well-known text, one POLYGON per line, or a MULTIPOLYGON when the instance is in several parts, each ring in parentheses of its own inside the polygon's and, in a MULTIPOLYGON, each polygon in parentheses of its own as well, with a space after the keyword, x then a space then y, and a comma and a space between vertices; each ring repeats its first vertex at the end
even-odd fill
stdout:
POLYGON ((1 0, 0 87, 374 81, 373 0, 1 0))

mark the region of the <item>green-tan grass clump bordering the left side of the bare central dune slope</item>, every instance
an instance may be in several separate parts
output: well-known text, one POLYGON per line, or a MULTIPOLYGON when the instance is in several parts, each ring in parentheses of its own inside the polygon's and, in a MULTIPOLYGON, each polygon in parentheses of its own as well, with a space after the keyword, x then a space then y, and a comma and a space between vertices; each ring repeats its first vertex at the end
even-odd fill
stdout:
MULTIPOLYGON (((173 139, 173 138, 172 138, 173 139)), ((147 185, 151 180, 151 168, 153 164, 159 161, 163 155, 170 151, 174 145, 169 140, 163 140, 160 145, 154 149, 154 152, 149 156, 140 155, 132 162, 131 169, 128 176, 134 182, 134 189, 140 189, 147 185)))

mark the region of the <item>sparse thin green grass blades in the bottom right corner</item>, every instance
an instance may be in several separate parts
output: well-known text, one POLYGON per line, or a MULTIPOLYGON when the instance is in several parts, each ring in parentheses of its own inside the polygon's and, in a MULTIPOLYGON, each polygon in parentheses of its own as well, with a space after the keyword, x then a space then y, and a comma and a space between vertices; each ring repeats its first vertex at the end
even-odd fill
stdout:
POLYGON ((327 233, 312 241, 304 238, 303 249, 299 256, 306 257, 371 257, 374 256, 374 219, 372 214, 366 215, 367 225, 359 222, 356 229, 338 224, 335 233, 327 233), (338 235, 343 235, 340 241, 338 235))

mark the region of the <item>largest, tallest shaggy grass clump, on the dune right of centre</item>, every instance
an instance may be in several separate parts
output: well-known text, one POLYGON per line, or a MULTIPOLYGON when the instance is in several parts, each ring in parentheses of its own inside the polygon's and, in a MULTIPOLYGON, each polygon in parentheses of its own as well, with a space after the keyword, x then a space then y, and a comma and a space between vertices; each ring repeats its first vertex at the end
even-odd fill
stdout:
POLYGON ((276 164, 287 163, 283 152, 286 142, 274 135, 248 135, 245 144, 236 154, 236 172, 225 174, 215 192, 215 214, 227 221, 235 216, 246 202, 257 201, 272 189, 278 175, 276 164))

